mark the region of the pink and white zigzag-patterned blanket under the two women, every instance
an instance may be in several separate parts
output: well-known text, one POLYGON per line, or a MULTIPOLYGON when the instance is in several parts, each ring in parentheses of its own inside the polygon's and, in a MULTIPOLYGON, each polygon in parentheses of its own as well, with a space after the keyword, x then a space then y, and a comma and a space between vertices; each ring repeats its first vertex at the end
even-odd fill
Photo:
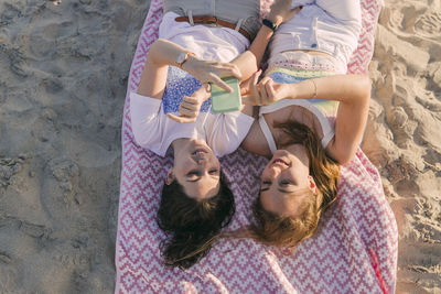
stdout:
MULTIPOLYGON (((348 68, 364 73, 373 55, 380 0, 361 0, 363 33, 348 68)), ((269 7, 262 0, 262 8, 269 7)), ((133 63, 128 92, 138 87, 150 44, 158 37, 162 1, 152 0, 133 63)), ((116 293, 394 293, 397 227, 375 166, 359 150, 342 166, 338 197, 320 230, 292 255, 249 239, 225 239, 189 270, 164 268, 163 237, 155 222, 160 190, 172 159, 139 148, 130 127, 129 95, 122 121, 122 172, 116 246, 116 293)), ((250 205, 267 160, 244 150, 222 159, 236 199, 228 227, 249 224, 250 205)))

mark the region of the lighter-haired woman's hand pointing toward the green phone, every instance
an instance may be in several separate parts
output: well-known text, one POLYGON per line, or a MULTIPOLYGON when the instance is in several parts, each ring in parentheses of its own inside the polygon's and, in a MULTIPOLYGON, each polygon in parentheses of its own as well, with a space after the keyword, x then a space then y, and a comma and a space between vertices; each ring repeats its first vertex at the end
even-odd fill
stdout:
POLYGON ((288 97, 288 85, 275 83, 270 77, 263 77, 259 83, 261 72, 256 72, 243 86, 241 102, 244 105, 266 106, 288 97))

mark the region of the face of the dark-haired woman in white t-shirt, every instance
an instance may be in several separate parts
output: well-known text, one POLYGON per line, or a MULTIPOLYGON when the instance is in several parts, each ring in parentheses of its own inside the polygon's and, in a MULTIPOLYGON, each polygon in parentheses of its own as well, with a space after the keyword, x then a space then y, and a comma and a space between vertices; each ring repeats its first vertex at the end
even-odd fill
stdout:
POLYGON ((187 140, 174 152, 165 184, 176 179, 189 197, 209 198, 219 190, 220 164, 204 140, 187 140))

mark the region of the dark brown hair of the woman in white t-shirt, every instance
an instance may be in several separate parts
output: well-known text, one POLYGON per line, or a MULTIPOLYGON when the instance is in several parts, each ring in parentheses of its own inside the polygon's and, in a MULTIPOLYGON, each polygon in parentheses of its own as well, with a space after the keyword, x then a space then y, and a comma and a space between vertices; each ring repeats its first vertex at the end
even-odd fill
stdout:
POLYGON ((170 266, 187 269, 205 257, 235 213, 235 202, 220 173, 219 192, 206 199, 191 198, 174 181, 164 185, 157 222, 166 237, 160 250, 170 266))

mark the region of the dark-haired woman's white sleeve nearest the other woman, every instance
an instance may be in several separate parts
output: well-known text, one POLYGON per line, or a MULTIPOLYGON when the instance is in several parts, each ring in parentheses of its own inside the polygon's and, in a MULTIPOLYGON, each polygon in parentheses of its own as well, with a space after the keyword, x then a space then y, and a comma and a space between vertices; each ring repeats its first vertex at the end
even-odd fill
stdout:
POLYGON ((217 156, 229 154, 240 145, 254 122, 254 118, 239 111, 215 115, 215 121, 206 126, 207 144, 217 156))

